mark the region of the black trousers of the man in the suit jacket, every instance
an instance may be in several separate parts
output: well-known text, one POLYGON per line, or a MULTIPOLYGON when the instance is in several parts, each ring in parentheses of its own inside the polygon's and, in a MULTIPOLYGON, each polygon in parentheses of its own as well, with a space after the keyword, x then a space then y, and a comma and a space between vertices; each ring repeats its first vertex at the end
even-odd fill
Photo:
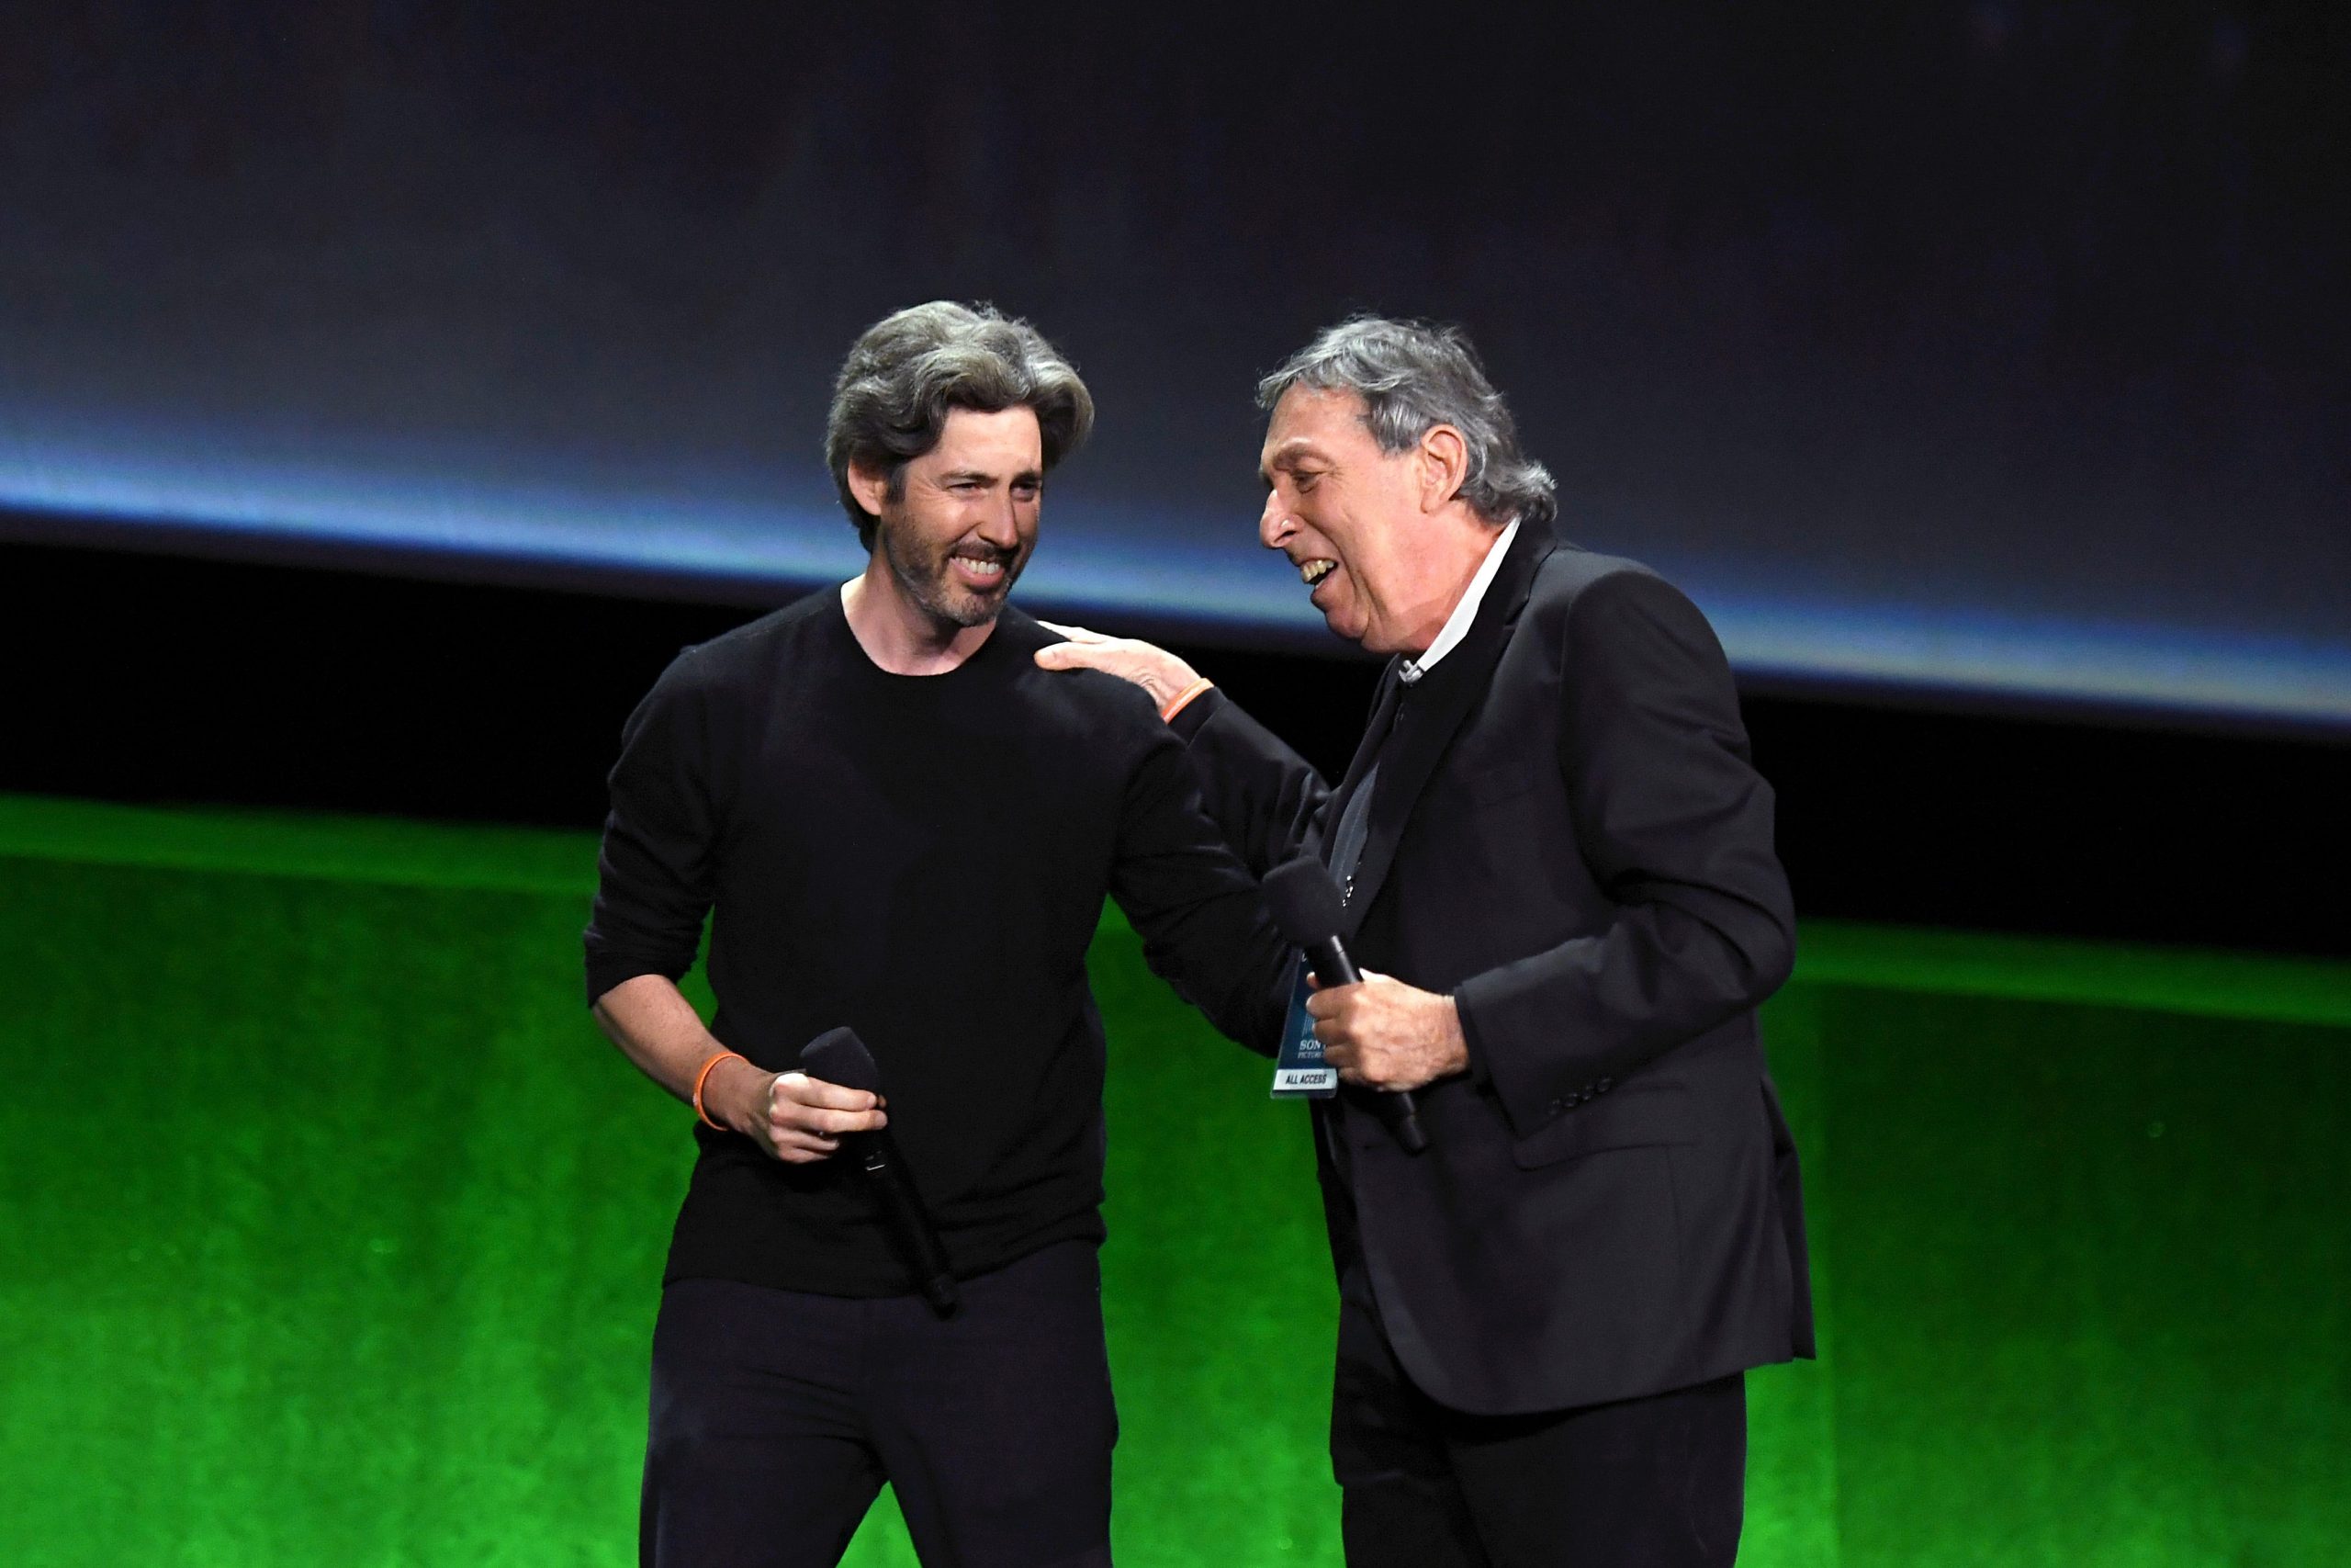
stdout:
POLYGON ((1728 1568, 1747 1505, 1747 1382, 1465 1415, 1413 1387, 1349 1269, 1331 1467, 1347 1568, 1728 1568))

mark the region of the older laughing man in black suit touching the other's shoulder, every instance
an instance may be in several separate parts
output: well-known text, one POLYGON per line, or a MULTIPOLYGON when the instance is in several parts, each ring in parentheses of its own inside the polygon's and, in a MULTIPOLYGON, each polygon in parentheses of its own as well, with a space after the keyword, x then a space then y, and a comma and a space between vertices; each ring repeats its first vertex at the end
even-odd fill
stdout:
POLYGON ((1730 668, 1662 578, 1552 536, 1460 331, 1349 320, 1260 402, 1262 543, 1389 656, 1340 785, 1161 649, 1037 661, 1150 689, 1251 867, 1347 889, 1366 973, 1310 1004, 1347 1561, 1730 1563, 1742 1373, 1813 1354, 1756 1034, 1794 912, 1730 668))

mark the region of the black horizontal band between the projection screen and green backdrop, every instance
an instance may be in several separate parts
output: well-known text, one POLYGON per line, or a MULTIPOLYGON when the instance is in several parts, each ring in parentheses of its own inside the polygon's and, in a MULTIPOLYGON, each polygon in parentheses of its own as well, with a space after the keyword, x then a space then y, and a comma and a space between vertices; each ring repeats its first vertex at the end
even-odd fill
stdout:
MULTIPOLYGON (((590 827, 630 705, 757 607, 0 548, 0 790, 590 827)), ((1375 665, 1183 649, 1326 771, 1375 665)), ((2351 952, 2351 745, 1747 693, 1810 917, 2351 952)))

